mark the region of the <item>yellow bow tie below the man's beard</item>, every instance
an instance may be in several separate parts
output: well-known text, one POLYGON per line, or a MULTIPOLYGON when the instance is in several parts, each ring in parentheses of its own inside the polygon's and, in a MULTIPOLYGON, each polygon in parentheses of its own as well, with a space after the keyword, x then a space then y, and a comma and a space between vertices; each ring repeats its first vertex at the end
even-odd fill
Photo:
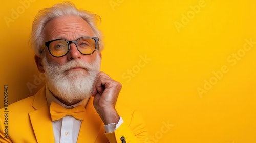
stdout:
POLYGON ((86 109, 84 108, 84 105, 76 106, 73 109, 66 109, 56 102, 52 102, 50 105, 50 113, 52 121, 60 120, 66 115, 72 115, 78 120, 83 120, 84 115, 86 114, 86 109))

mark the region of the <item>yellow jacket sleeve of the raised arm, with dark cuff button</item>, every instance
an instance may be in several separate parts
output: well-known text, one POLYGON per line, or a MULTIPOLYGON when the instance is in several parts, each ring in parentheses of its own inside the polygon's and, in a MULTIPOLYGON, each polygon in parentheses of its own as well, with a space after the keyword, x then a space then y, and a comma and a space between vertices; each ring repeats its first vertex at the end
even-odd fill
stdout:
POLYGON ((111 143, 125 142, 137 143, 145 142, 148 138, 148 130, 143 117, 138 111, 132 113, 131 120, 125 120, 115 132, 105 134, 111 143), (123 141, 124 142, 124 141, 123 141))

